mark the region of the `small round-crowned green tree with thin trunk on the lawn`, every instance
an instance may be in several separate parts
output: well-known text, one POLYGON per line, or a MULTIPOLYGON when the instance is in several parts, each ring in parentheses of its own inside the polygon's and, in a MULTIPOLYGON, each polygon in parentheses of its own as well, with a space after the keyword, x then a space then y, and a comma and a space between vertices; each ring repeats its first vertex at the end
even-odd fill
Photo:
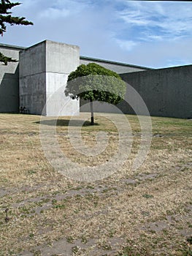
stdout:
POLYGON ((65 95, 72 99, 88 99, 91 108, 91 124, 94 124, 93 101, 113 105, 123 100, 126 83, 116 72, 96 63, 81 64, 69 74, 65 95))

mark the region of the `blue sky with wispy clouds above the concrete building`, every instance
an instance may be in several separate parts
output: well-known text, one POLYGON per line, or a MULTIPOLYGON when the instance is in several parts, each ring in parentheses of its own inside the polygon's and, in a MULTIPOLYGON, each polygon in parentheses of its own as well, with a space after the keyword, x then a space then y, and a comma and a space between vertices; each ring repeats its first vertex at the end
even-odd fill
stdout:
POLYGON ((80 55, 145 67, 192 64, 192 2, 23 0, 12 9, 34 26, 7 26, 1 43, 45 39, 80 46, 80 55))

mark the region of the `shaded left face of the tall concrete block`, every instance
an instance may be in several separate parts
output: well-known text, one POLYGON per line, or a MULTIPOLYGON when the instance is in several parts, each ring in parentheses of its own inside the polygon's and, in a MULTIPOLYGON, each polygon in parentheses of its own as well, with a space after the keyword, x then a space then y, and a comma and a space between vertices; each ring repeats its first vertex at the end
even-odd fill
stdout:
POLYGON ((20 52, 20 106, 40 115, 46 103, 46 43, 20 52))

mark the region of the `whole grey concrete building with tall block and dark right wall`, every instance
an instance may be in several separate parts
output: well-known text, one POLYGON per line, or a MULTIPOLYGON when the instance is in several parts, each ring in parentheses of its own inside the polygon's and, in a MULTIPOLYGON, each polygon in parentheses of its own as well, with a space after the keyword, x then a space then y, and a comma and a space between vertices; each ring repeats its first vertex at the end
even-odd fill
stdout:
MULTIPOLYGON (((0 112, 18 113, 20 107, 26 107, 29 113, 45 116, 78 113, 80 101, 64 95, 66 80, 78 65, 95 62, 118 72, 134 87, 151 116, 192 118, 192 65, 150 69, 80 56, 79 51, 78 46, 49 40, 30 48, 0 44, 1 53, 18 60, 7 66, 0 64, 0 112)), ((126 100, 118 108, 134 113, 126 100)), ((96 110, 104 112, 102 105, 96 110)))

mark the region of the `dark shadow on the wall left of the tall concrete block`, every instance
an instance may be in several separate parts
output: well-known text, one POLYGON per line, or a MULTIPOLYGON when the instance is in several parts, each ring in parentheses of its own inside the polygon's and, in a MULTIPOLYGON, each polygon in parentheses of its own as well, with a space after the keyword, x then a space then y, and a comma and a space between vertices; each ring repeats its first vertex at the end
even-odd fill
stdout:
POLYGON ((19 68, 14 74, 4 73, 0 83, 0 112, 19 112, 19 68))

